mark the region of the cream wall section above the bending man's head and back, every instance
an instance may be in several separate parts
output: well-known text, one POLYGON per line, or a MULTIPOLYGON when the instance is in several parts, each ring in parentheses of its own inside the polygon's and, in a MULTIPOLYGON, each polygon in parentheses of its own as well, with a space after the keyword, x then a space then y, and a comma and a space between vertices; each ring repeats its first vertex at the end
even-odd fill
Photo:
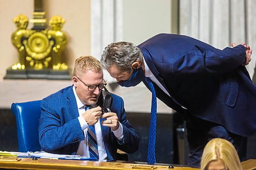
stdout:
POLYGON ((123 41, 139 44, 159 33, 170 33, 170 0, 124 0, 123 41))

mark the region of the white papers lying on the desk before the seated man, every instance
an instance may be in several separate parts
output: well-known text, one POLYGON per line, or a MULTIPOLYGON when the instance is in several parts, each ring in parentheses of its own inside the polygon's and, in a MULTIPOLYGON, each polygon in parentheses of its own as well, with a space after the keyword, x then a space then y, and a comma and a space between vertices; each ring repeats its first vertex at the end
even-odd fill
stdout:
POLYGON ((44 151, 41 152, 11 152, 13 154, 17 154, 18 156, 36 156, 40 158, 48 158, 48 159, 58 159, 58 158, 64 158, 66 156, 72 156, 72 157, 80 157, 80 155, 58 155, 58 154, 51 154, 44 151))

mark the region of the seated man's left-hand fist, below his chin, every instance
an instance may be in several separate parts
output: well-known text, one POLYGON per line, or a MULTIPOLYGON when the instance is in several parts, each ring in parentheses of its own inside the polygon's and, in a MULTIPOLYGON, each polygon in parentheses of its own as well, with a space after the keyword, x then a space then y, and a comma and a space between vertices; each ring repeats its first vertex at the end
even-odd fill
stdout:
POLYGON ((82 114, 89 126, 96 124, 101 116, 101 107, 95 107, 82 114))

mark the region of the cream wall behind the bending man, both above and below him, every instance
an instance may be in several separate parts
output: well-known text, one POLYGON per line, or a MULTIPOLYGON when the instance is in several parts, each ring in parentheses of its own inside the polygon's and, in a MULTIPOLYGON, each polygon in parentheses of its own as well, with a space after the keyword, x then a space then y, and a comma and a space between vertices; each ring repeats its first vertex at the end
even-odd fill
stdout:
MULTIPOLYGON (((172 0, 123 0, 123 39, 135 44, 159 33, 173 33, 172 0)), ((108 74, 108 72, 106 72, 108 74)), ((140 83, 136 87, 116 86, 110 91, 122 96, 125 110, 150 112, 152 93, 140 83), (131 92, 132 91, 132 92, 131 92)), ((158 113, 172 113, 173 110, 157 99, 158 113)))

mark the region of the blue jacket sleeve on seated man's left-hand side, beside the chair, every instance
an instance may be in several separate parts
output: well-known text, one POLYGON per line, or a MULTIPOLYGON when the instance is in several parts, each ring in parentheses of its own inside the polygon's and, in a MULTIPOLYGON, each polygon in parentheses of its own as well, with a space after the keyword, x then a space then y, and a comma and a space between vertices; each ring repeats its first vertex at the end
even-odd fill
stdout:
POLYGON ((42 150, 49 152, 84 140, 78 118, 62 124, 64 122, 62 116, 62 112, 54 110, 47 100, 41 101, 38 131, 42 150))

